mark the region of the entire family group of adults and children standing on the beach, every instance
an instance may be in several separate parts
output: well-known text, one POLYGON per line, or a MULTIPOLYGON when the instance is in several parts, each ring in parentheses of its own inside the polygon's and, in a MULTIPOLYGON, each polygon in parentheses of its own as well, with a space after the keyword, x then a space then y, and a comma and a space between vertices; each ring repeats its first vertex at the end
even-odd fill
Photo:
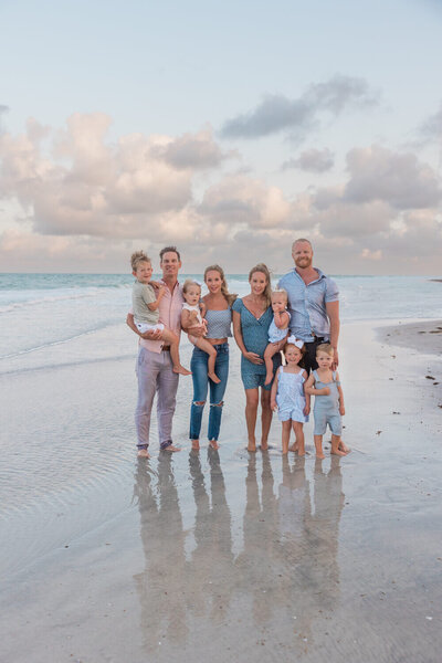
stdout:
POLYGON ((337 373, 339 298, 336 283, 313 266, 313 249, 306 239, 293 242, 294 269, 272 291, 265 264, 249 274, 250 294, 229 293, 223 270, 204 271, 208 294, 188 278, 181 286, 181 256, 176 246, 160 251, 162 277, 151 280, 152 264, 141 251, 131 256, 136 278, 128 326, 139 336, 137 358, 138 401, 135 413, 138 455, 149 457, 149 429, 155 394, 160 449, 180 451, 172 443, 172 419, 179 376, 190 375, 192 449, 200 445, 202 413, 208 391, 208 438, 219 448, 223 397, 229 376, 229 343, 241 350, 241 378, 245 391, 248 450, 256 450, 255 428, 261 390, 261 449, 267 449, 273 411, 282 422, 282 450, 305 454, 303 425, 314 403, 316 456, 324 459, 323 435, 332 431, 332 453, 345 455, 341 440, 344 396, 337 373), (181 366, 179 339, 183 329, 193 344, 190 371, 181 366), (282 354, 284 361, 282 360, 282 354), (290 446, 291 431, 295 443, 290 446))

